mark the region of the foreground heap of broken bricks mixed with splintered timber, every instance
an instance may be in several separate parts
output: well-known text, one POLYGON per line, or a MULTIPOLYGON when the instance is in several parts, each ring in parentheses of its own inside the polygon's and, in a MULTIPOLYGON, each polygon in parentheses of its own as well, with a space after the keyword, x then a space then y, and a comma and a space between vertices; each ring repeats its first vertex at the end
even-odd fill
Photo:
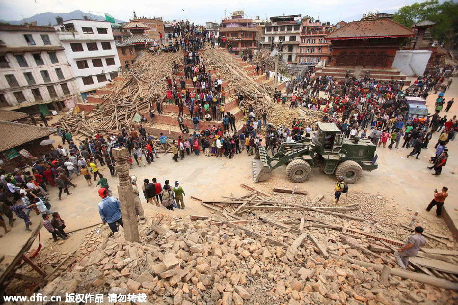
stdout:
MULTIPOLYGON (((372 216, 387 206, 379 197, 355 194, 352 204, 333 210, 320 202, 322 196, 310 200, 254 190, 239 199, 203 201, 210 216, 158 214, 141 220, 140 243, 127 242, 122 231, 111 237, 106 225, 99 226, 67 270, 41 292, 146 293, 152 303, 175 305, 456 302, 456 292, 402 279, 394 275, 397 267, 389 276, 378 272, 381 264, 394 266, 391 253, 400 242, 392 235, 394 219, 385 227, 386 218, 372 216)), ((429 240, 428 247, 433 247, 429 240)), ((457 280, 436 270, 433 275, 457 280)))

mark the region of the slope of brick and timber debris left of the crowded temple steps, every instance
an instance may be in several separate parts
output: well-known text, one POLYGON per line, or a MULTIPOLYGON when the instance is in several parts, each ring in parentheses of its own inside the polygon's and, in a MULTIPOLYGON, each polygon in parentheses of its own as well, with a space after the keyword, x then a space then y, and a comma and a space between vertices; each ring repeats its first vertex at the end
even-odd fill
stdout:
POLYGON ((180 61, 181 53, 161 53, 153 55, 146 52, 139 60, 124 71, 103 91, 109 94, 95 95, 103 99, 89 114, 71 113, 64 115, 55 124, 69 130, 73 135, 95 136, 112 130, 131 126, 133 118, 140 111, 155 109, 152 102, 162 101, 166 95, 167 76, 172 77, 173 61, 180 61))

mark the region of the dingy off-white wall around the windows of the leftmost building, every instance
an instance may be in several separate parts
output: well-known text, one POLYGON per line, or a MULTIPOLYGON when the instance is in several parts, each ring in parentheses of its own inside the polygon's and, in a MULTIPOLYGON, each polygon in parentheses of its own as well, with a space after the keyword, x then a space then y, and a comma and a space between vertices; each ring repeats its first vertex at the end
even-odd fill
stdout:
POLYGON ((20 104, 21 107, 31 106, 37 102, 51 101, 51 100, 63 100, 68 99, 71 96, 79 93, 78 87, 74 82, 74 75, 71 67, 68 65, 67 57, 65 56, 64 50, 62 50, 59 37, 56 32, 52 31, 0 31, 0 40, 6 43, 7 48, 15 48, 14 51, 4 53, 4 56, 8 62, 8 67, 2 67, 0 69, 0 90, 4 95, 6 103, 0 104, 0 106, 17 106, 20 104), (24 35, 32 35, 35 45, 29 45, 24 35), (50 44, 44 44, 41 35, 47 35, 50 44), (20 51, 23 49, 24 51, 20 51), (35 49, 35 50, 34 50, 35 49), (17 50, 17 51, 16 51, 17 50), (55 52, 58 59, 58 63, 51 63, 49 57, 50 52, 55 52), (20 67, 17 59, 14 55, 21 54, 26 63, 27 67, 20 67), (37 62, 33 54, 39 54, 43 62, 37 62), (59 79, 57 76, 56 69, 61 69, 64 78, 59 79), (46 70, 49 75, 49 81, 45 81, 41 75, 41 71, 46 70), (29 85, 25 79, 24 73, 32 73, 35 80, 34 85, 29 85), (10 86, 6 80, 5 75, 14 75, 18 86, 10 86), (69 94, 64 93, 62 86, 67 84, 69 94), (52 86, 57 93, 57 97, 51 97, 47 86, 52 86), (42 100, 35 99, 32 94, 32 89, 38 89, 42 100), (18 101, 14 93, 22 92, 25 101, 18 101))

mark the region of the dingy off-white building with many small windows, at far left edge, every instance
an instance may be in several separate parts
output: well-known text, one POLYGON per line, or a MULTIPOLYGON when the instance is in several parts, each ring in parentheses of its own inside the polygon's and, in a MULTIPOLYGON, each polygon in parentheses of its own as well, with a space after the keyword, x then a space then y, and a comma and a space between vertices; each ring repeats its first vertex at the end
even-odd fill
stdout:
POLYGON ((0 107, 47 115, 78 102, 78 87, 53 27, 0 25, 0 74, 0 107))

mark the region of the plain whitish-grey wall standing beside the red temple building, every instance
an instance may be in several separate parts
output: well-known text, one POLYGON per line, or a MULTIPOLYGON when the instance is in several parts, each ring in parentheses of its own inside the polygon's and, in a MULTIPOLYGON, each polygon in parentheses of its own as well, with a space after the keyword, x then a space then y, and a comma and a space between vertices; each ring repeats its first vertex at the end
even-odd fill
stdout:
POLYGON ((423 76, 432 53, 430 50, 400 50, 392 66, 407 76, 423 76))

